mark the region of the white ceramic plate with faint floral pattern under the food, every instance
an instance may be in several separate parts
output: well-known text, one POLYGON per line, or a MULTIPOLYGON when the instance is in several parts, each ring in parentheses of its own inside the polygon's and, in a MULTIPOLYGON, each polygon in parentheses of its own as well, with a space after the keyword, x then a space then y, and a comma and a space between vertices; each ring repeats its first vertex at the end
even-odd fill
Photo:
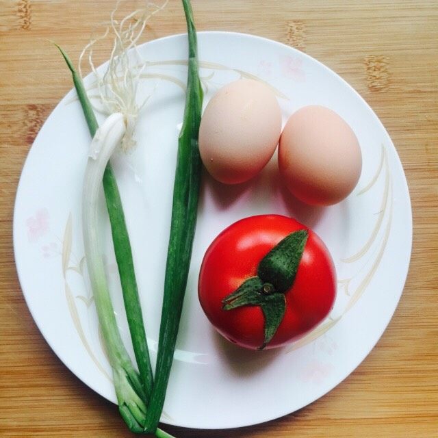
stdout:
MULTIPOLYGON (((357 188, 346 201, 328 208, 294 201, 278 179, 275 159, 243 185, 224 186, 203 177, 162 421, 231 428, 304 407, 368 355, 396 309, 407 276, 411 206, 400 160, 383 125, 333 71, 304 53, 255 36, 201 32, 198 38, 208 89, 205 103, 224 83, 254 75, 277 90, 283 122, 303 105, 326 105, 350 124, 363 154, 357 188), (294 216, 320 234, 335 260, 339 289, 331 318, 313 333, 286 348, 251 352, 225 342, 209 325, 198 304, 197 276, 207 246, 222 229, 240 218, 268 213, 294 216)), ((138 122, 136 151, 114 158, 154 361, 187 49, 184 35, 140 48, 145 59, 156 62, 146 69, 154 78, 143 82, 153 96, 138 122)), ((89 142, 81 107, 70 91, 27 157, 16 196, 14 249, 23 293, 42 335, 81 381, 115 402, 83 266, 80 198, 89 142)), ((103 201, 101 210, 105 217, 103 201)), ((102 233, 118 324, 131 352, 107 220, 102 233)))

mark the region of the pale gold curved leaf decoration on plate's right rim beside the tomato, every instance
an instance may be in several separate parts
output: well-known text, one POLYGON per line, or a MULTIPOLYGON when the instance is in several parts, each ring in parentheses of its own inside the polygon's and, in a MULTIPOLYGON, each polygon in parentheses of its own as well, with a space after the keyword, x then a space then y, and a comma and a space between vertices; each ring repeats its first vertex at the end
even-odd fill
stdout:
POLYGON ((335 326, 342 319, 342 317, 346 315, 346 313, 357 303, 359 298, 361 298, 366 288, 370 284, 370 281, 376 274, 378 270, 378 266, 381 263, 383 254, 385 253, 385 248, 387 247, 389 233, 391 231, 393 210, 394 210, 394 194, 393 194, 392 183, 391 183, 391 172, 389 170, 389 164, 387 161, 387 153, 385 150, 385 146, 382 144, 381 160, 376 170, 376 173, 374 174, 374 177, 372 178, 370 183, 365 185, 365 188, 363 188, 358 193, 358 195, 365 194, 366 192, 368 192, 368 190, 370 190, 370 188, 372 188, 372 186, 378 180, 378 177, 380 177, 383 169, 385 169, 385 187, 383 189, 381 210, 379 211, 378 220, 376 222, 376 225, 374 226, 371 236, 367 241, 367 243, 355 255, 353 255, 352 257, 348 257, 347 259, 341 260, 344 263, 351 263, 352 261, 357 261, 361 259, 365 255, 365 253, 368 252, 368 250, 372 246, 372 243, 376 240, 376 236, 378 235, 378 232, 381 229, 381 226, 383 224, 383 218, 385 217, 387 207, 389 205, 389 214, 388 214, 387 224, 385 227, 385 233, 383 235, 381 246, 378 250, 376 258, 374 259, 374 262, 372 263, 371 268, 368 270, 365 276, 363 276, 362 281, 359 283, 355 291, 353 291, 352 293, 350 293, 349 290, 350 282, 352 281, 352 279, 355 278, 355 276, 359 275, 359 272, 361 272, 361 270, 359 270, 357 274, 355 274, 355 276, 352 276, 350 279, 339 280, 338 283, 343 287, 345 294, 347 296, 350 296, 350 299, 348 300, 346 307, 344 308, 344 311, 342 311, 341 315, 339 315, 337 318, 329 317, 329 319, 326 320, 326 322, 323 322, 320 326, 316 327, 316 329, 305 335, 305 337, 302 337, 302 339, 300 339, 299 341, 294 342, 294 344, 292 344, 292 346, 290 346, 286 350, 286 353, 289 353, 291 351, 297 350, 298 348, 301 348, 302 346, 310 344, 315 339, 318 339, 318 337, 324 335, 324 333, 329 331, 333 326, 335 326), (388 200, 389 200, 389 204, 388 204, 388 200))

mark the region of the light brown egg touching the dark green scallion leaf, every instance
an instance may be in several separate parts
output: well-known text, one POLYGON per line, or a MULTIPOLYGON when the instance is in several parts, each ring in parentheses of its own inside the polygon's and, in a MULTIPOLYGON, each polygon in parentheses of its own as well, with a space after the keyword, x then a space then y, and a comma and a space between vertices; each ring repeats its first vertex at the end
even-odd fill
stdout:
POLYGON ((199 127, 201 159, 218 181, 242 183, 266 166, 280 133, 274 92, 259 81, 239 79, 218 90, 205 108, 199 127))

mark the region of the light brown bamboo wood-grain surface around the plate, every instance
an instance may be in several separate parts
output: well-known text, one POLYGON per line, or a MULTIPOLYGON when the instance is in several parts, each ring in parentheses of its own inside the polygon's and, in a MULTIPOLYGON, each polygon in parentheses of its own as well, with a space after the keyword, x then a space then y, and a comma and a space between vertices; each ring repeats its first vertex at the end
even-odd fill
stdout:
MULTIPOLYGON (((129 437, 116 407, 57 359, 23 300, 12 248, 14 196, 38 130, 72 87, 48 40, 73 59, 114 1, 0 1, 0 436, 129 437)), ((129 6, 127 6, 128 8, 129 6)), ((438 3, 436 0, 193 0, 198 30, 257 34, 305 51, 348 81, 389 131, 413 207, 400 305, 376 348, 329 394, 238 430, 194 437, 438 437, 438 3)), ((145 40, 185 31, 179 1, 145 40)), ((104 58, 101 59, 102 61, 104 58)), ((400 236, 403 238, 403 236, 400 236)))

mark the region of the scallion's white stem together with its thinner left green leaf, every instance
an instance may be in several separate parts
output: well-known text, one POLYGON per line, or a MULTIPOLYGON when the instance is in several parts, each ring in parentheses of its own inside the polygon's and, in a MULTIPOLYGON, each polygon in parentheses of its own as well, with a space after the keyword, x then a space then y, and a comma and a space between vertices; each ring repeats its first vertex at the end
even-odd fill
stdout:
MULTIPOLYGON (((66 53, 59 46, 57 46, 57 48, 60 49, 73 75, 73 83, 75 84, 77 95, 79 96, 83 114, 91 135, 95 137, 99 125, 94 116, 86 90, 83 87, 81 77, 77 74, 66 53)), ((115 123, 114 118, 112 120, 112 123, 115 123)), ((107 123, 111 122, 108 121, 107 123)), ((108 127, 105 129, 108 129, 108 127)), ((114 127, 114 129, 116 128, 114 127)), ((103 133, 104 132, 101 132, 100 136, 102 136, 103 133)), ((112 131, 112 135, 108 140, 110 140, 112 144, 109 146, 105 145, 105 148, 110 147, 110 149, 114 149, 118 144, 116 141, 118 138, 116 138, 114 131, 112 131)), ((99 153, 96 153, 96 158, 99 159, 99 163, 93 159, 88 160, 83 198, 83 214, 86 216, 83 218, 83 229, 84 232, 87 233, 84 235, 84 245, 88 247, 86 251, 86 253, 88 253, 86 257, 88 270, 90 272, 90 280, 92 281, 94 300, 96 302, 105 348, 113 369, 114 387, 116 389, 119 411, 129 429, 132 432, 140 433, 143 431, 145 424, 147 395, 150 394, 153 383, 151 362, 149 360, 149 350, 144 333, 140 299, 138 297, 136 277, 133 271, 131 245, 129 243, 125 216, 123 214, 123 205, 112 166, 108 161, 112 151, 107 150, 105 156, 103 155, 104 153, 104 148, 102 148, 99 153), (133 348, 142 378, 141 381, 138 372, 133 368, 131 359, 120 338, 120 333, 114 318, 114 309, 112 307, 110 294, 107 290, 105 272, 99 252, 99 242, 95 234, 97 229, 95 216, 96 193, 100 188, 102 180, 107 209, 110 216, 114 252, 116 253, 120 273, 120 282, 123 289, 129 330, 131 331, 133 348)), ((172 438, 172 435, 160 429, 156 430, 155 435, 159 438, 172 438)))

